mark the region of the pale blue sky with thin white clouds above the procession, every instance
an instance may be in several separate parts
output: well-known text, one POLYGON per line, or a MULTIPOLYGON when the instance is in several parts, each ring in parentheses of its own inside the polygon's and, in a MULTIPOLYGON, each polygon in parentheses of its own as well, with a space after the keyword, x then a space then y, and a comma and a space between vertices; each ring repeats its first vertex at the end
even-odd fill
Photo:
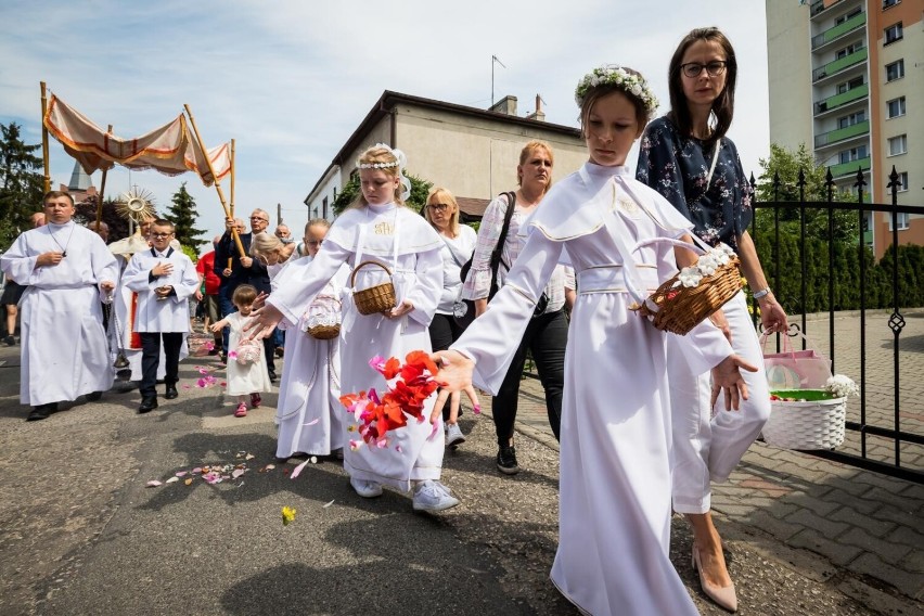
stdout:
MULTIPOLYGON (((267 209, 274 229, 279 204, 300 236, 305 197, 383 91, 487 108, 493 89, 496 100, 516 97, 519 115, 535 110, 538 93, 547 121, 577 127, 578 80, 617 63, 649 79, 660 115, 669 111, 670 56, 703 26, 721 28, 735 48, 729 137, 745 171, 759 176, 758 161, 769 154, 760 0, 3 0, 0 124, 15 121, 26 143, 41 142, 40 81, 123 138, 167 124, 189 104, 208 147, 235 141, 235 214, 267 209)), ((628 164, 634 161, 633 150, 628 164)), ((73 169, 51 139, 52 188, 73 169)), ((204 236, 220 233, 218 193, 192 174, 116 167, 105 196, 137 187, 164 211, 184 181, 204 236)), ((100 188, 100 172, 92 183, 100 188)), ((228 179, 221 188, 230 198, 228 179)))

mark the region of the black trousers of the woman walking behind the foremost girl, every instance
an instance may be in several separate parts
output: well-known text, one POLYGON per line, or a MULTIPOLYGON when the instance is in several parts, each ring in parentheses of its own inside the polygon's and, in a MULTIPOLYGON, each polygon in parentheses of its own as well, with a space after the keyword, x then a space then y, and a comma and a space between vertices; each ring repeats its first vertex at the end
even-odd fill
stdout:
POLYGON ((495 428, 498 445, 506 445, 513 438, 513 424, 516 421, 516 408, 519 400, 519 381, 526 365, 526 351, 532 352, 532 360, 539 371, 539 381, 546 390, 546 409, 549 425, 555 439, 562 425, 562 389, 565 385, 565 346, 568 344, 568 320, 564 310, 542 315, 529 321, 526 332, 510 370, 504 376, 498 395, 491 399, 491 412, 495 415, 495 428))

